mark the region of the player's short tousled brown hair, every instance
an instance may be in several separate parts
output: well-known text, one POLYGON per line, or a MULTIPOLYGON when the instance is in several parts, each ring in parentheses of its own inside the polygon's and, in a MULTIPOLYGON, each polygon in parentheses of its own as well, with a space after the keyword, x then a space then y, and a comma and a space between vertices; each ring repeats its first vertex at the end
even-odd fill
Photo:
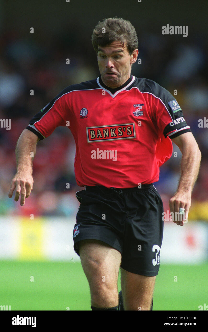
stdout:
POLYGON ((98 22, 93 30, 92 43, 98 53, 98 46, 107 46, 113 41, 120 41, 122 47, 126 44, 129 54, 138 48, 136 31, 129 21, 116 17, 98 22))

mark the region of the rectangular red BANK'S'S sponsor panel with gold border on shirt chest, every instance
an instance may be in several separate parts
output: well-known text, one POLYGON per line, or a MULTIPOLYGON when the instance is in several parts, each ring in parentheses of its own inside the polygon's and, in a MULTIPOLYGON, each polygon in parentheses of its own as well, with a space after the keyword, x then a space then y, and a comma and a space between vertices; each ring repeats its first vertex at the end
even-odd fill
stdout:
POLYGON ((86 129, 88 143, 136 138, 134 123, 86 127, 86 129))

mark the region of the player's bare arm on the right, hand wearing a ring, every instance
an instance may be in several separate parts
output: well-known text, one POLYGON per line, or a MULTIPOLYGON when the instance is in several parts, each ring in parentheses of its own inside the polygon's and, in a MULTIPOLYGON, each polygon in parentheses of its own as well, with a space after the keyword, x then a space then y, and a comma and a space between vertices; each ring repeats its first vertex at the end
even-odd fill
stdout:
POLYGON ((185 208, 183 220, 174 221, 177 225, 183 226, 191 206, 191 193, 199 173, 201 152, 191 132, 186 132, 172 138, 172 141, 182 152, 182 159, 178 188, 174 196, 169 200, 169 207, 170 212, 173 212, 174 215, 175 212, 179 212, 179 208, 185 208))

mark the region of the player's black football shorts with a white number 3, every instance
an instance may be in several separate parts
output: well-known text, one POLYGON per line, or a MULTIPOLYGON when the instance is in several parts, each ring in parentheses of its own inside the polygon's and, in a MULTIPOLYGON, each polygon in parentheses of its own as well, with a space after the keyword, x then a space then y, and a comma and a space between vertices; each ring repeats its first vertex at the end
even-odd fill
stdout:
POLYGON ((80 240, 97 239, 121 253, 121 268, 156 276, 163 237, 163 204, 152 184, 141 189, 86 186, 76 193, 80 207, 73 230, 74 250, 80 240))

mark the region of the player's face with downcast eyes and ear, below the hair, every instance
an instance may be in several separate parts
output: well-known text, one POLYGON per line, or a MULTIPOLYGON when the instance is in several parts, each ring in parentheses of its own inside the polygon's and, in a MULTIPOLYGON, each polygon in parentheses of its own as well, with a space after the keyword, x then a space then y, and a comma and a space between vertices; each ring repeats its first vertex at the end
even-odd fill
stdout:
POLYGON ((137 59, 138 49, 130 55, 126 44, 113 41, 109 46, 98 46, 98 66, 102 81, 110 88, 117 88, 130 77, 131 65, 137 59))

